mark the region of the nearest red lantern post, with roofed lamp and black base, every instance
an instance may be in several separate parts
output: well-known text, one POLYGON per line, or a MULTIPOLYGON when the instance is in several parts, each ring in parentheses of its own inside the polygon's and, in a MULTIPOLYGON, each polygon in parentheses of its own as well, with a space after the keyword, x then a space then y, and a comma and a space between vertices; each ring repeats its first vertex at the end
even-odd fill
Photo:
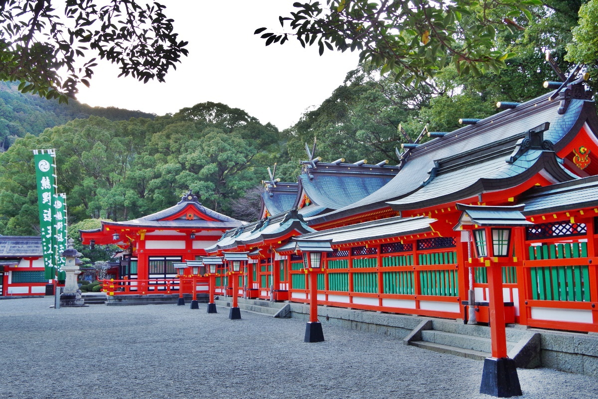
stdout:
MULTIPOLYGON (((502 293, 502 268, 514 266, 513 230, 533 224, 521 214, 524 205, 480 206, 457 204, 462 211, 455 230, 469 230, 475 254, 487 269, 490 292, 490 339, 492 357, 484 360, 480 393, 496 397, 521 396, 515 361, 507 356, 505 304, 502 293)), ((472 263, 469 258, 469 263, 472 263)))

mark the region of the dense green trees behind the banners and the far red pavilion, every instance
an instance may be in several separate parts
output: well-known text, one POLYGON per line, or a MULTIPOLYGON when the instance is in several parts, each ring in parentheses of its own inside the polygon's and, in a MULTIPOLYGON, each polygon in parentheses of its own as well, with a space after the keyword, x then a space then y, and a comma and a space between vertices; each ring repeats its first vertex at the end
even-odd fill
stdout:
POLYGON ((56 148, 57 184, 67 194, 69 236, 91 261, 117 249, 78 243, 99 218, 122 221, 173 206, 190 188, 226 214, 231 201, 288 157, 279 132, 245 111, 202 103, 173 115, 110 121, 89 117, 17 139, 0 153, 0 234, 35 234, 37 198, 32 149, 56 148))

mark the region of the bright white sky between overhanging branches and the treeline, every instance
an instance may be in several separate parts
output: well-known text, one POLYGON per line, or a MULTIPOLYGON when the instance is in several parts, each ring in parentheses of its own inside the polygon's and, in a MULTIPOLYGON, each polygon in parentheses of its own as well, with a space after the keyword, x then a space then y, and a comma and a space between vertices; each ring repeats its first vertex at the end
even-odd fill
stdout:
POLYGON ((158 115, 222 102, 282 130, 328 98, 358 62, 358 53, 348 50, 326 50, 320 57, 317 45, 304 49, 294 37, 265 47, 255 29, 280 29, 278 16, 292 11, 294 0, 161 2, 175 20, 179 39, 189 42, 189 56, 166 75, 165 83, 117 78, 116 66, 100 62, 90 89, 81 85, 78 100, 158 115))

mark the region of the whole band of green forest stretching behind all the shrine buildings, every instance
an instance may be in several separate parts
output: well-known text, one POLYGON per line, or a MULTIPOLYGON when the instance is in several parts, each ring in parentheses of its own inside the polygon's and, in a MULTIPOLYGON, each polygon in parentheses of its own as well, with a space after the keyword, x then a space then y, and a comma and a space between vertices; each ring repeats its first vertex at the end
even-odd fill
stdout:
POLYGON ((256 215, 240 212, 243 207, 237 205, 255 203, 256 187, 275 162, 277 178, 297 181, 304 145, 314 137, 316 156, 328 162, 344 157, 346 162, 388 159, 396 164, 395 147, 405 141, 399 124, 411 138, 426 125, 429 131, 450 132, 459 127, 459 118, 497 112, 496 101, 523 102, 546 93, 542 82, 559 78, 545 62, 544 51, 550 50, 564 71, 572 69, 564 60, 565 45, 580 4, 550 1, 525 31, 503 32, 499 39, 504 49, 517 55, 499 75, 460 76, 449 67, 416 86, 392 74, 380 77, 379 69, 362 65, 282 132, 221 103, 200 103, 151 119, 134 115, 136 111, 92 109, 75 102, 60 108, 35 96, 16 100, 10 87, 3 89, 0 122, 22 128, 17 136, 51 128, 16 139, 0 154, 0 234, 34 234, 38 229, 34 148, 57 150, 58 185, 67 194, 71 223, 151 214, 174 205, 189 188, 209 208, 251 220, 256 215), (65 123, 74 117, 83 118, 65 123))

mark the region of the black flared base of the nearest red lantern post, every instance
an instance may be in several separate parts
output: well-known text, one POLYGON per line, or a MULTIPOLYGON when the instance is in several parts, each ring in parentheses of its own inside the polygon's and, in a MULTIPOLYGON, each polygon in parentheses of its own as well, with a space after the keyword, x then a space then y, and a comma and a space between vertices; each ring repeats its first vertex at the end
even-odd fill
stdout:
POLYGON ((523 395, 515 361, 509 358, 484 359, 480 394, 492 395, 498 398, 523 395))

